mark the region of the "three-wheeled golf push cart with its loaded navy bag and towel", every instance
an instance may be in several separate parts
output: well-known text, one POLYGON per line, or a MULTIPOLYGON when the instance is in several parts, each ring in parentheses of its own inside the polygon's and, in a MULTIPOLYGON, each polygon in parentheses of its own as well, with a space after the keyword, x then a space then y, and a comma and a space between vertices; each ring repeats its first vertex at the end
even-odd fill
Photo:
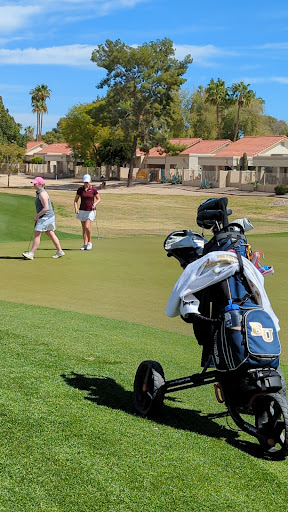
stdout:
POLYGON ((167 256, 184 269, 166 314, 192 324, 202 346, 202 370, 166 380, 159 362, 143 361, 134 380, 134 410, 153 418, 168 393, 214 384, 237 427, 254 436, 264 454, 285 457, 288 401, 279 368, 279 325, 264 288, 264 276, 274 270, 261 265, 259 251, 252 252, 248 219, 229 223, 227 204, 226 197, 213 198, 198 208, 198 226, 212 229, 209 241, 183 230, 164 242, 167 256))

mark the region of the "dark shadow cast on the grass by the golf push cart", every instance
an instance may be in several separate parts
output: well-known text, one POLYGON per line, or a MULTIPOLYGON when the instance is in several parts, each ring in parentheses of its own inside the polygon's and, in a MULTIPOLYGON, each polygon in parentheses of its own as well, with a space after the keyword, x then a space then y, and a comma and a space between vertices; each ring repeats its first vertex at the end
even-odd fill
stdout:
MULTIPOLYGON (((69 386, 81 391, 87 391, 86 400, 110 407, 111 409, 120 409, 128 414, 134 414, 133 392, 126 391, 114 379, 87 376, 74 372, 68 375, 61 375, 61 377, 69 386)), ((166 397, 165 402, 169 401, 169 398, 166 397)), ((176 400, 170 398, 170 401, 176 400)), ((227 441, 228 439, 232 440, 238 436, 238 433, 213 421, 223 416, 227 416, 226 411, 219 414, 203 415, 198 410, 171 407, 165 403, 161 409, 161 415, 158 418, 153 418, 153 421, 161 425, 188 430, 203 436, 225 438, 227 441)))

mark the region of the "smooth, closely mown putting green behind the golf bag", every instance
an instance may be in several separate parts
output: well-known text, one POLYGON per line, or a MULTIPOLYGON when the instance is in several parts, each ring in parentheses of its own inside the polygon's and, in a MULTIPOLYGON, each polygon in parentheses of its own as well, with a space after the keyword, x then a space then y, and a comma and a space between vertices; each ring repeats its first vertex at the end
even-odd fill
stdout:
MULTIPOLYGON (((288 362, 288 238, 251 236, 249 241, 254 250, 264 251, 264 263, 275 267, 275 274, 266 278, 265 285, 280 319, 283 361, 288 362)), ((81 240, 63 240, 66 256, 59 260, 51 258, 54 248, 44 237, 34 261, 21 257, 26 245, 0 245, 0 300, 127 320, 192 335, 192 328, 179 317, 167 318, 164 313, 181 268, 176 260, 166 257, 162 237, 95 239, 89 252, 79 250, 81 240)))

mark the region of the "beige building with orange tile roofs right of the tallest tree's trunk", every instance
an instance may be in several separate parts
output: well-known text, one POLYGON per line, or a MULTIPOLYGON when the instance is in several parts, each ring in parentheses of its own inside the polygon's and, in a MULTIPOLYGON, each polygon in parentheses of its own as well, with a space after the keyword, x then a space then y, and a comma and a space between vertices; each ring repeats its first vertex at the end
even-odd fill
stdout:
POLYGON ((204 178, 208 178, 213 186, 238 186, 256 181, 275 185, 286 180, 288 137, 284 135, 249 136, 236 142, 201 138, 172 139, 170 142, 183 145, 185 142, 186 147, 177 156, 166 154, 163 148, 152 148, 148 155, 141 157, 141 167, 150 172, 161 170, 162 176, 165 173, 166 177, 177 171, 182 174, 184 184, 195 186, 204 178), (239 170, 244 153, 248 160, 245 176, 239 170))

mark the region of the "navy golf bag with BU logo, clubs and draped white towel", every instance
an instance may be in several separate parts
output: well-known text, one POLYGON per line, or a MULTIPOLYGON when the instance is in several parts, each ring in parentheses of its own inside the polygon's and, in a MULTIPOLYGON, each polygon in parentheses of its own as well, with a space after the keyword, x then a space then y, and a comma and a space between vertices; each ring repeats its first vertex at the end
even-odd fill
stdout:
MULTIPOLYGON (((183 231, 172 233, 172 237, 169 235, 164 242, 168 255, 176 257, 185 268, 182 282, 186 275, 190 280, 187 285, 189 293, 185 294, 185 283, 181 288, 180 314, 185 322, 193 324, 195 337, 203 346, 202 366, 213 366, 219 372, 278 368, 281 347, 274 317, 270 314, 272 308, 264 308, 261 304, 259 289, 260 294, 261 289, 265 294, 261 285, 264 278, 249 259, 252 251, 244 233, 243 226, 251 226, 251 223, 247 219, 229 223, 228 215, 232 212, 227 209, 227 203, 226 197, 210 199, 198 208, 197 224, 202 228, 212 228, 213 236, 209 241, 203 235, 183 231), (236 271, 226 279, 197 290, 201 277, 207 280, 209 266, 212 272, 221 272, 221 264, 226 257, 227 266, 234 265, 236 271), (193 272, 197 275, 195 280, 191 277, 193 272), (258 288, 255 287, 257 279, 258 288), (189 310, 194 281, 196 291, 193 291, 193 298, 199 304, 196 313, 189 310), (236 324, 232 325, 231 315, 236 324)), ((270 306, 268 298, 267 303, 270 306)))

